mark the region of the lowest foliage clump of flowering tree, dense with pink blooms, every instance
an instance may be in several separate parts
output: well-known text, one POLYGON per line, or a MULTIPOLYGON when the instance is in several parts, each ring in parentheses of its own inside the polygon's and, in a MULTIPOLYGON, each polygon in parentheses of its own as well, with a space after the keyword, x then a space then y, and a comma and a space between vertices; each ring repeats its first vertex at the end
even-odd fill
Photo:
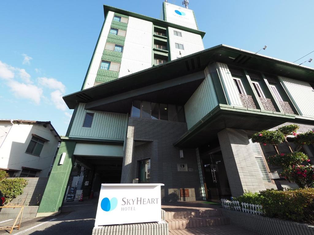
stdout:
POLYGON ((295 181, 301 188, 314 187, 314 165, 292 165, 281 175, 295 181))

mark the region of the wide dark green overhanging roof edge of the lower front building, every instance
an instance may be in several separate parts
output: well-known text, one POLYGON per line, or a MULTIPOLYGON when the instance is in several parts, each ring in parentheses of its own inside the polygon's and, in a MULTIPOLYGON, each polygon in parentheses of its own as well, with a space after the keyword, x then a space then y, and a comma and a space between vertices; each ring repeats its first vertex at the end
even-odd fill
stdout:
POLYGON ((209 63, 215 61, 276 76, 286 76, 297 80, 314 82, 313 68, 221 44, 180 59, 169 61, 165 64, 153 66, 149 69, 75 92, 64 96, 63 99, 70 109, 74 109, 78 102, 88 103, 185 76, 204 70, 209 63))

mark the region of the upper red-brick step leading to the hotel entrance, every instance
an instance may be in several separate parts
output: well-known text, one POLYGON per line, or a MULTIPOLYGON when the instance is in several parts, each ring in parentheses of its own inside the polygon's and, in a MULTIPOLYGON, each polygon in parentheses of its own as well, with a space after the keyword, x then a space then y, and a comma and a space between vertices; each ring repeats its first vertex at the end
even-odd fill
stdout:
POLYGON ((200 218, 200 217, 210 217, 210 216, 221 216, 221 211, 218 209, 209 210, 187 210, 178 212, 166 212, 164 214, 164 219, 190 219, 190 218, 200 218))

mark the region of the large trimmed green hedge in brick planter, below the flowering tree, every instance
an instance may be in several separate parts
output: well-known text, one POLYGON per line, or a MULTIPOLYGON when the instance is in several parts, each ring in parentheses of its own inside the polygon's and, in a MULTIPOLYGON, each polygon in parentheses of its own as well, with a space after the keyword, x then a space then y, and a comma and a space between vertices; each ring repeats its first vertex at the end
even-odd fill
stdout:
POLYGON ((314 188, 260 192, 265 216, 314 224, 314 188))

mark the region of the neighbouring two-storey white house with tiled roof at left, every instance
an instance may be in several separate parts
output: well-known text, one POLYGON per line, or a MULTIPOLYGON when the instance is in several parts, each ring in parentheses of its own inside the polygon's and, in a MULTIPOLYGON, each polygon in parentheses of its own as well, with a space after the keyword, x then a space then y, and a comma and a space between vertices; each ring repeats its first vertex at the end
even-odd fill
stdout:
POLYGON ((47 177, 60 136, 50 122, 0 119, 0 170, 47 177))

